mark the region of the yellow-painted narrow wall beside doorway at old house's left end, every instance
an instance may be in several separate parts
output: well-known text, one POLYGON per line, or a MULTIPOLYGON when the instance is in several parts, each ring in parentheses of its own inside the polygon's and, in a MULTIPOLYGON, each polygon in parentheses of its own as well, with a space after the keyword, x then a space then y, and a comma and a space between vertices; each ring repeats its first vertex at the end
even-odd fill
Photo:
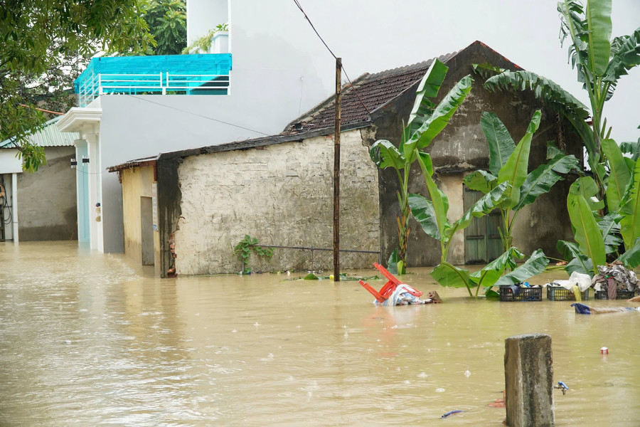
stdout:
MULTIPOLYGON (((124 253, 142 264, 141 197, 151 197, 154 182, 152 166, 124 169, 122 174, 122 211, 124 212, 124 253)), ((159 253, 159 248, 156 248, 159 253)))

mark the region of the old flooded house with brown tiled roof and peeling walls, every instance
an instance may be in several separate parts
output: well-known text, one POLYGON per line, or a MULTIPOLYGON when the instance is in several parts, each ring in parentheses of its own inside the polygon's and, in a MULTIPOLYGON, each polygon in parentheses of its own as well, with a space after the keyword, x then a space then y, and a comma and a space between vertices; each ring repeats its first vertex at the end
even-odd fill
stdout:
MULTIPOLYGON (((479 41, 439 58, 449 66, 439 96, 471 64, 518 66, 479 41)), ((341 110, 341 268, 369 268, 385 260, 397 245, 397 176, 379 170, 369 157, 377 139, 397 144, 415 90, 431 64, 409 65, 365 74, 343 89, 341 110), (348 253, 363 256, 349 258, 348 253)), ((473 201, 462 179, 486 169, 489 148, 480 127, 483 111, 496 112, 514 138, 523 135, 533 112, 542 108, 523 93, 487 93, 476 79, 471 94, 449 126, 428 148, 439 188, 449 196, 449 215, 458 218, 473 201)), ((543 108, 543 120, 531 149, 530 168, 545 162, 546 142, 560 139, 572 154, 580 144, 543 108)), ((317 105, 270 137, 164 152, 156 157, 116 164, 122 183, 125 253, 144 263, 154 260, 166 275, 233 273, 241 265, 233 247, 245 235, 274 246, 270 261, 253 260, 263 270, 311 268, 302 250, 328 250, 333 230, 334 98, 317 105), (298 252, 291 252, 292 249, 298 252)), ((559 238, 570 238, 565 212, 567 184, 560 182, 520 214, 514 244, 525 253, 543 248, 555 253, 559 238), (535 233, 531 233, 534 229, 535 233)), ((420 173, 410 191, 426 194, 420 173)), ((412 220, 407 262, 435 265, 439 244, 412 220)), ((499 236, 491 216, 481 218, 452 243, 452 263, 495 258, 499 236)), ((314 268, 330 269, 331 258, 314 268)))

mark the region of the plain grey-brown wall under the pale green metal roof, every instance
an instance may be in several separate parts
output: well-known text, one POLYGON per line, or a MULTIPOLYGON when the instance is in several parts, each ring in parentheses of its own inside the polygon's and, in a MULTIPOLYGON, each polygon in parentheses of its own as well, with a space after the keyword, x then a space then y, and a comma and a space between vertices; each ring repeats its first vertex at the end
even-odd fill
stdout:
POLYGON ((21 241, 77 240, 74 147, 46 147, 47 163, 18 174, 18 236, 21 241))

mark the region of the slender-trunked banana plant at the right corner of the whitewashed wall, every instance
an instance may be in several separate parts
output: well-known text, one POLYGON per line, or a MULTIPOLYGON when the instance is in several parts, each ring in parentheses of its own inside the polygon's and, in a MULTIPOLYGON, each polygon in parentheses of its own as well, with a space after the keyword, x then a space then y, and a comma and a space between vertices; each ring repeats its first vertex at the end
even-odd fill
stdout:
POLYGON ((409 172, 411 165, 426 155, 422 149, 429 146, 433 139, 442 132, 466 95, 471 90, 473 79, 466 75, 442 101, 435 105, 430 98, 436 97, 444 82, 449 68, 442 61, 434 58, 429 70, 420 81, 416 91, 415 102, 409 115, 398 147, 386 140, 379 139, 370 149, 370 157, 380 169, 392 168, 398 176, 398 202, 400 216, 398 221, 398 248, 391 254, 388 267, 393 273, 405 273, 407 260, 407 242, 410 233, 408 220, 409 209, 409 172))

